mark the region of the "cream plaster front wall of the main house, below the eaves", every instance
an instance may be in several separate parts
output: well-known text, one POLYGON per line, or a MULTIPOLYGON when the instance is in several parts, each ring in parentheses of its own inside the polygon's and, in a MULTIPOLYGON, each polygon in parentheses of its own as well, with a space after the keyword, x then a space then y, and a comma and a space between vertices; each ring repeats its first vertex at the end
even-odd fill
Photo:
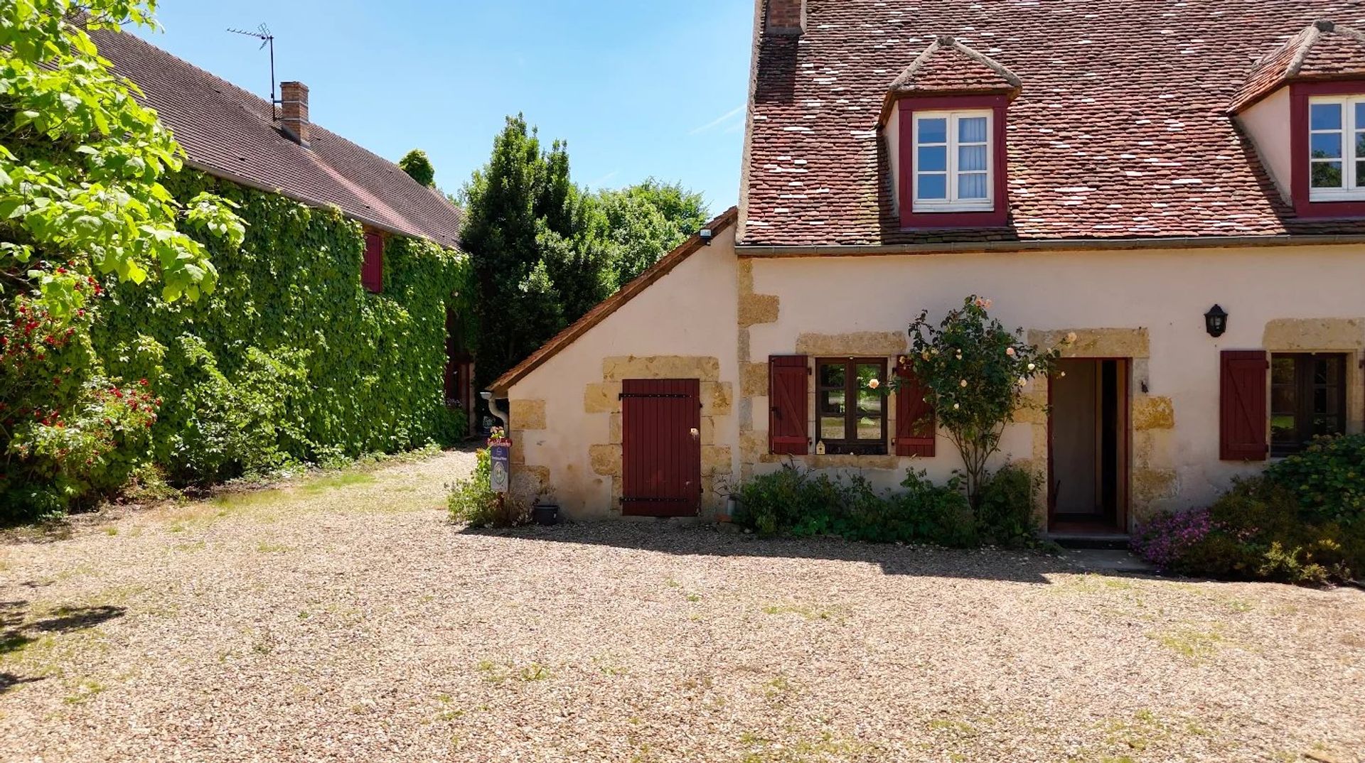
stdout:
MULTIPOLYGON (((753 258, 752 289, 775 295, 773 322, 747 329, 755 363, 790 354, 801 334, 902 330, 928 308, 940 317, 968 293, 994 299, 992 314, 1035 336, 1048 330, 1145 329, 1093 332, 1110 337, 1093 352, 1130 354, 1125 337, 1143 337, 1149 358, 1133 363, 1134 419, 1156 420, 1134 433, 1134 510, 1193 505, 1212 498, 1237 475, 1261 465, 1219 460, 1219 351, 1319 349, 1351 352, 1350 427, 1361 429, 1365 379, 1358 360, 1365 345, 1365 247, 1264 247, 1241 250, 1156 250, 1009 253, 901 257, 753 258), (1204 311, 1219 303, 1230 314, 1220 339, 1204 332, 1204 311), (1284 319, 1290 321, 1284 321, 1284 319), (1312 319, 1309 319, 1312 318, 1312 319), (1320 319, 1321 318, 1321 319, 1320 319), (1167 411, 1167 405, 1170 411, 1167 411), (1162 408, 1148 411, 1147 408, 1162 408), (1156 414, 1160 414, 1159 416, 1156 414), (1174 419, 1174 426, 1160 422, 1174 419), (1138 464, 1140 461, 1140 464, 1138 464), (1141 478, 1141 479, 1138 479, 1141 478)), ((1085 333, 1082 336, 1091 336, 1085 333)), ((1132 349, 1140 356, 1143 349, 1132 349)), ((1035 382, 1029 392, 1046 394, 1035 382)), ((745 401, 741 400, 741 405, 745 401)), ((767 397, 748 403, 767 409, 767 397)), ((1024 412, 1003 440, 1005 457, 1043 464, 1046 426, 1024 412)), ((766 422, 755 415, 753 444, 766 438, 766 422)), ((811 457, 814 460, 814 457, 811 457)), ((770 461, 770 460, 763 460, 770 461)), ((868 460, 867 475, 894 487, 912 465, 901 459, 868 460)), ((960 465, 940 434, 938 456, 920 460, 935 478, 960 465)), ((777 468, 752 465, 753 474, 777 468)), ((748 464, 744 472, 749 472, 748 464)))

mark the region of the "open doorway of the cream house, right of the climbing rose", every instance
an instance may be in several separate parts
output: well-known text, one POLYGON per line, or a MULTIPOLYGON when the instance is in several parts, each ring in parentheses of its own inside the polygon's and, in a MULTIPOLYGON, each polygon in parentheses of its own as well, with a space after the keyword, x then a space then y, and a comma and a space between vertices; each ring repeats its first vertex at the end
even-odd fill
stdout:
POLYGON ((1067 358, 1048 382, 1047 528, 1127 531, 1129 362, 1067 358))

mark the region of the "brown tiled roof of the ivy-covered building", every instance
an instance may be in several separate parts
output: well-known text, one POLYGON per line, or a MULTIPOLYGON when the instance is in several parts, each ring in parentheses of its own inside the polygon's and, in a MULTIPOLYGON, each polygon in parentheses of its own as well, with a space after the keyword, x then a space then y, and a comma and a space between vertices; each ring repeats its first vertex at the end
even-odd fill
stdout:
POLYGON ((220 79, 138 37, 91 34, 100 55, 135 82, 190 165, 278 191, 313 206, 442 246, 459 243, 461 213, 444 195, 360 146, 313 124, 310 149, 285 136, 265 98, 220 79))

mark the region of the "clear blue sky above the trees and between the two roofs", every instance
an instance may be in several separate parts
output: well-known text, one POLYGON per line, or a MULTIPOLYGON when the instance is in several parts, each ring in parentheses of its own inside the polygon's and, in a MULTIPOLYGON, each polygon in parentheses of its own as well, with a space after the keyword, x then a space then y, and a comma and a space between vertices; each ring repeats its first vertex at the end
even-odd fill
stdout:
POLYGON ((751 0, 161 0, 153 44, 262 97, 308 86, 311 119, 397 160, 420 147, 455 191, 509 113, 569 142, 576 182, 654 176, 738 198, 751 0))

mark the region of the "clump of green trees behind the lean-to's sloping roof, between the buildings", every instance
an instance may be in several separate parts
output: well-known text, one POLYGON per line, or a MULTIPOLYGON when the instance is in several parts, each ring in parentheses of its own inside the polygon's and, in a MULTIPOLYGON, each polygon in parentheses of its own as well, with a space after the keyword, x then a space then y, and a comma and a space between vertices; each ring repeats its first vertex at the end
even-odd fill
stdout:
POLYGON ((520 115, 460 197, 474 255, 478 373, 487 384, 696 232, 700 198, 647 182, 587 194, 569 154, 546 150, 520 115))

